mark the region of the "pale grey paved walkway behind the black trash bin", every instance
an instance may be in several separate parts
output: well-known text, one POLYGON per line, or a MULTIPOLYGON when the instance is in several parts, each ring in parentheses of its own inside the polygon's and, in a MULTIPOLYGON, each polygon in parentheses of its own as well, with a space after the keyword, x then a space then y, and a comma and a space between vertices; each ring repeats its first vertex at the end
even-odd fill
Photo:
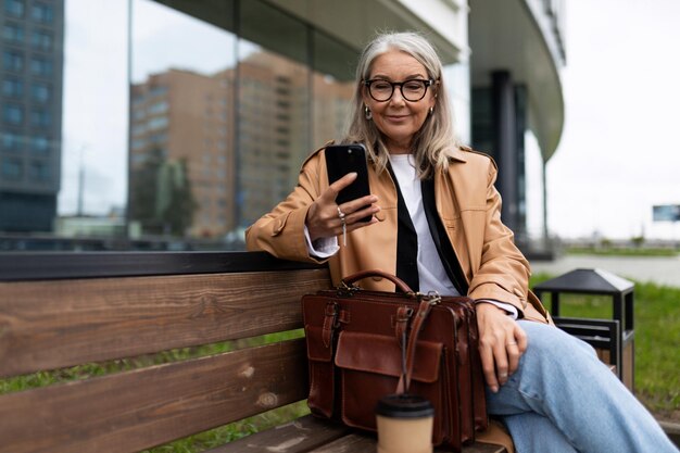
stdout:
POLYGON ((531 262, 533 274, 558 276, 578 268, 600 268, 641 282, 651 281, 680 288, 680 256, 567 255, 552 262, 531 262))

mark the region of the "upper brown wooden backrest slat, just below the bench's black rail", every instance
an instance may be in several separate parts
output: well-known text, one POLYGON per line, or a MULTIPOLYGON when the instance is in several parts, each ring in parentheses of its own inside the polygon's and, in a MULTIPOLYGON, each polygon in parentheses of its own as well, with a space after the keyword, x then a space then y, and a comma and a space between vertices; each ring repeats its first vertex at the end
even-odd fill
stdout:
POLYGON ((328 269, 0 282, 0 377, 302 327, 328 269))

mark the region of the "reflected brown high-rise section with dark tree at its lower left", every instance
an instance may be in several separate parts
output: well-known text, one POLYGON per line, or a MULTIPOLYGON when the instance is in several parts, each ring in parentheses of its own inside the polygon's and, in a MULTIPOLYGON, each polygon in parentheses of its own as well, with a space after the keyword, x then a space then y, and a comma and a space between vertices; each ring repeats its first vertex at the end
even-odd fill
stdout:
POLYGON ((212 237, 234 227, 234 70, 171 70, 131 88, 133 221, 212 237))

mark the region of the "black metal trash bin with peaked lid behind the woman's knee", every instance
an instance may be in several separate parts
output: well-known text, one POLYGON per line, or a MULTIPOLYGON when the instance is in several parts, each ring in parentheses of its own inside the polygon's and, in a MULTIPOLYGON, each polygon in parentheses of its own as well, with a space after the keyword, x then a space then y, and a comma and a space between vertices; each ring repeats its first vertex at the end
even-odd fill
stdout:
POLYGON ((605 363, 616 367, 630 391, 635 380, 633 290, 632 281, 602 269, 575 269, 533 288, 540 299, 551 294, 551 314, 557 327, 593 345, 605 363), (559 316, 561 293, 610 295, 612 319, 559 316))

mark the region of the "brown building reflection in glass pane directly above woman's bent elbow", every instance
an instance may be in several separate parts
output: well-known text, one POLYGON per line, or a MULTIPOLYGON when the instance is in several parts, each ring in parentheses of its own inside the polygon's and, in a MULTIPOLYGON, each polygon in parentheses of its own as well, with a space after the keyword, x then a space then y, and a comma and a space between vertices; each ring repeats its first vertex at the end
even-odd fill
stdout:
POLYGON ((294 187, 308 152, 308 70, 239 42, 239 226, 268 212, 294 187))

